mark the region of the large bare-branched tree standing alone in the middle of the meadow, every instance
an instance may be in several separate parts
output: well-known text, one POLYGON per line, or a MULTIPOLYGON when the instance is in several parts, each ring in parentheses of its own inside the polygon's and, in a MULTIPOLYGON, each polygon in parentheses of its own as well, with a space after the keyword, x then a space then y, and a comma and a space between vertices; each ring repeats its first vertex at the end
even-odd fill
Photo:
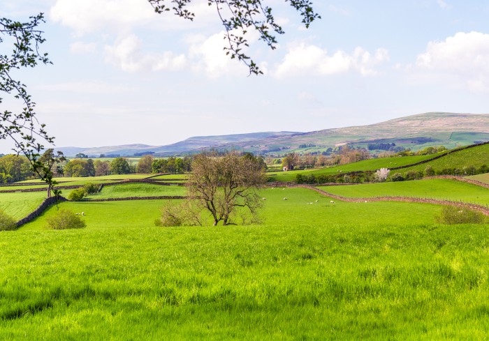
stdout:
POLYGON ((258 190, 266 181, 263 162, 250 154, 237 152, 216 157, 200 154, 194 157, 187 188, 189 199, 212 215, 214 226, 222 221, 230 225, 237 208, 256 216, 261 207, 258 190))

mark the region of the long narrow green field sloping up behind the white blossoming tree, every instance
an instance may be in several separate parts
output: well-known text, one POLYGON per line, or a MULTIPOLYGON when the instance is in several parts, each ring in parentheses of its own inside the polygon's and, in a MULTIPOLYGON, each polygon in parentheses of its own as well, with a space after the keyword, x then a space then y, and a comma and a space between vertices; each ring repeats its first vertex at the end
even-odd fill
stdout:
MULTIPOLYGON (((346 165, 338 165, 334 167, 326 167, 321 169, 305 169, 305 170, 297 170, 297 171, 289 171, 289 172, 270 172, 267 173, 270 181, 294 181, 295 175, 297 174, 328 174, 334 175, 339 174, 340 171, 343 173, 347 172, 358 172, 358 171, 374 171, 381 168, 391 168, 391 167, 400 167, 405 165, 412 165, 413 163, 420 162, 423 160, 429 160, 434 158, 436 155, 424 155, 424 156, 402 156, 402 157, 393 157, 393 158, 376 158, 363 160, 358 162, 351 162, 346 165)), ((423 168, 424 169, 424 168, 423 168)))

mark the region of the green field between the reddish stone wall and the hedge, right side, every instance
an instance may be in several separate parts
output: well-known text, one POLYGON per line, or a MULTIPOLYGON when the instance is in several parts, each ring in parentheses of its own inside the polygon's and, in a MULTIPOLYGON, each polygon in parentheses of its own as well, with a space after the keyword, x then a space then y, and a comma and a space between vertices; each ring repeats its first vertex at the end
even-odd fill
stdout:
POLYGON ((421 197, 489 204, 487 188, 452 179, 318 186, 318 188, 343 197, 421 197))

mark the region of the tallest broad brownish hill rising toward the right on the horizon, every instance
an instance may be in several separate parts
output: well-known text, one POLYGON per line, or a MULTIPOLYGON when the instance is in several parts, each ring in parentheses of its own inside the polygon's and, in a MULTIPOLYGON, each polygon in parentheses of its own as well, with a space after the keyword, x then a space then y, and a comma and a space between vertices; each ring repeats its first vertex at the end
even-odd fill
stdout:
POLYGON ((395 143, 418 150, 425 146, 448 148, 489 141, 489 114, 431 112, 402 117, 369 126, 353 126, 305 132, 286 138, 241 144, 247 151, 268 151, 281 147, 284 152, 325 151, 350 144, 367 147, 372 143, 395 143), (258 145, 258 148, 257 148, 258 145), (302 147, 301 147, 302 146, 302 147))

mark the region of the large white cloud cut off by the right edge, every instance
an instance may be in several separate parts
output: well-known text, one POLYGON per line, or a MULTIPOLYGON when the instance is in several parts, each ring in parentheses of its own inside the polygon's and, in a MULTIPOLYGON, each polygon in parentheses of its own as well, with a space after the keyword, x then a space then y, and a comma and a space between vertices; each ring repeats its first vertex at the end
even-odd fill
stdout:
POLYGON ((472 91, 489 91, 489 34, 458 32, 444 41, 428 43, 416 59, 418 70, 431 81, 456 77, 472 91))

